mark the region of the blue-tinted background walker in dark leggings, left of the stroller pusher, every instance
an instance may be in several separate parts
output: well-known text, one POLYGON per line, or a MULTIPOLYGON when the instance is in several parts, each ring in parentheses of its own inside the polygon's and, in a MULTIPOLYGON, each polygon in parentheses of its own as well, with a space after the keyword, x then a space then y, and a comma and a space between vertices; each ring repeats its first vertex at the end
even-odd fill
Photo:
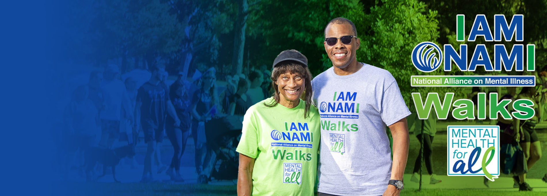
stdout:
POLYGON ((178 127, 174 126, 174 119, 168 116, 165 128, 167 137, 173 146, 173 158, 171 158, 171 165, 166 172, 171 180, 176 182, 184 181, 181 175, 181 158, 190 134, 190 96, 188 94, 188 84, 182 76, 182 74, 179 74, 177 81, 171 85, 169 91, 169 97, 181 123, 178 127))

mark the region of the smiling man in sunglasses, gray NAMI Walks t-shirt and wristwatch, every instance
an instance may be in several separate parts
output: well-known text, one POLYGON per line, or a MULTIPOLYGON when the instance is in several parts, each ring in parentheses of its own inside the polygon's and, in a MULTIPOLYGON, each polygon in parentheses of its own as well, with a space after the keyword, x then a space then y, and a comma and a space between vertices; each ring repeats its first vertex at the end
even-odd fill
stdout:
POLYGON ((333 67, 312 80, 321 114, 319 195, 399 195, 403 188, 410 111, 387 70, 357 62, 359 45, 350 20, 336 18, 325 27, 333 67))

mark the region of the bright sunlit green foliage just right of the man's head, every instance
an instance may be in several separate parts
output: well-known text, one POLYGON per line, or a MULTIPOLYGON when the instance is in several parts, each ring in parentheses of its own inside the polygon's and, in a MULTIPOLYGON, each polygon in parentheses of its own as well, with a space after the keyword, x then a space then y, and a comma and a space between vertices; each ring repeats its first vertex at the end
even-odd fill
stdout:
MULTIPOLYGON (((452 88, 411 87, 411 75, 439 75, 435 72, 422 73, 412 64, 414 47, 423 41, 435 42, 439 38, 438 13, 427 9, 417 0, 383 1, 375 5, 364 20, 356 26, 363 29, 361 48, 357 52, 360 62, 388 70, 397 80, 406 103, 411 103, 412 92, 444 93, 452 88)), ((441 74, 444 75, 444 74, 441 74)))

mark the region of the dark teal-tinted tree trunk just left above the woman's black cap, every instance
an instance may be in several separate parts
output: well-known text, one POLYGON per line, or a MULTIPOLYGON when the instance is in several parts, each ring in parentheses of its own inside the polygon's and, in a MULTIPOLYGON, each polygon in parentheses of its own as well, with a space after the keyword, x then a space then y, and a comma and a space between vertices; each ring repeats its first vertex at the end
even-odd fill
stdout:
POLYGON ((232 57, 232 68, 236 68, 234 74, 241 74, 243 68, 243 49, 245 49, 248 8, 247 0, 239 2, 239 14, 234 28, 234 56, 232 57))

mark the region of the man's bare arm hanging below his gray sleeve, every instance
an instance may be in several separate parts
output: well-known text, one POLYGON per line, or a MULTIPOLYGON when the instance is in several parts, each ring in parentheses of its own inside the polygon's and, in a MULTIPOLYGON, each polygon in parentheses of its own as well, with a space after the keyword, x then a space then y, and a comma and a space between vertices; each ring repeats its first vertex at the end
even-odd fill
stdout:
MULTIPOLYGON (((409 155, 409 130, 406 117, 388 126, 393 137, 393 163, 391 166, 391 180, 403 180, 406 159, 409 155)), ((386 182, 387 183, 387 182, 386 182)), ((393 185, 388 185, 383 195, 399 195, 400 191, 393 185)))

